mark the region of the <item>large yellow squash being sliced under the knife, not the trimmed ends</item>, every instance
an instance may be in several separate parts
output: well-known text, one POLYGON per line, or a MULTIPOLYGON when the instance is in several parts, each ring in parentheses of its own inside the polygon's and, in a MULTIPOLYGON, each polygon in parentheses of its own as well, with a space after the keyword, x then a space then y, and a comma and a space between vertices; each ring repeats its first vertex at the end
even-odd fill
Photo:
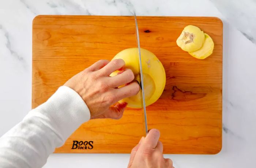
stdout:
MULTIPOLYGON (((142 57, 145 100, 146 106, 148 106, 157 101, 162 95, 166 82, 165 69, 152 52, 143 48, 140 48, 140 52, 142 57)), ((135 80, 140 83, 138 48, 124 49, 117 53, 113 59, 123 59, 125 61, 125 68, 131 69, 134 73, 135 80)), ((118 71, 115 71, 110 76, 115 76, 117 73, 118 71)), ((128 103, 128 107, 142 108, 140 92, 137 95, 125 98, 120 102, 123 101, 128 103)))

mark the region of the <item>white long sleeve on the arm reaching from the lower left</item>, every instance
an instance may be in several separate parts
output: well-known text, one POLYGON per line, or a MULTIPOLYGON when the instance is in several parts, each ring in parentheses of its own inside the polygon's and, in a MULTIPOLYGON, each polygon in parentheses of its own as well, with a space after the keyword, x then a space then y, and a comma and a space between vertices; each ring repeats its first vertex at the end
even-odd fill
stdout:
POLYGON ((0 167, 42 167, 54 149, 89 119, 90 111, 79 94, 60 87, 0 138, 0 167))

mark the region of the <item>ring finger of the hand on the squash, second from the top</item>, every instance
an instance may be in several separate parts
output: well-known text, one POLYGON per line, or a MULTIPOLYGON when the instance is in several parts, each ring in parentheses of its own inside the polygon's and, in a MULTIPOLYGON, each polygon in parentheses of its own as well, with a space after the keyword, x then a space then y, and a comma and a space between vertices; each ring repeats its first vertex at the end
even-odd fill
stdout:
POLYGON ((122 59, 115 59, 110 61, 105 67, 100 69, 102 75, 109 76, 112 72, 123 69, 125 67, 125 62, 122 59))

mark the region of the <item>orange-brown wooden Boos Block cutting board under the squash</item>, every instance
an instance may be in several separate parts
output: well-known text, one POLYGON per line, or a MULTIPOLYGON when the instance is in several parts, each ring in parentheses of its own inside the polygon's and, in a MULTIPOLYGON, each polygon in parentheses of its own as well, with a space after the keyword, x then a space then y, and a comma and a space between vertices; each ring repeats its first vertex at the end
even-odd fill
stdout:
MULTIPOLYGON (((147 107, 149 129, 161 131, 164 153, 218 153, 222 148, 222 21, 216 17, 137 19, 141 47, 153 52, 166 72, 162 96, 147 107), (176 45, 189 24, 212 37, 215 47, 207 59, 195 59, 176 45)), ((35 17, 32 108, 84 68, 132 47, 136 47, 133 16, 35 17)), ((130 153, 144 136, 143 117, 141 110, 128 108, 120 120, 90 120, 55 152, 130 153), (80 147, 87 149, 72 149, 73 141, 82 141, 80 147)))

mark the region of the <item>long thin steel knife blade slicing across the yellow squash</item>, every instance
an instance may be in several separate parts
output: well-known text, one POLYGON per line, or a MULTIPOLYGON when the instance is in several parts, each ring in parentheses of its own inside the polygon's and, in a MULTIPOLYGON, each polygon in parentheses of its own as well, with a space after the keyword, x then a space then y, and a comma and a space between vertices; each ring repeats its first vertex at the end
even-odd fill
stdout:
POLYGON ((143 83, 143 70, 142 70, 142 59, 140 55, 140 37, 139 37, 139 29, 138 29, 138 23, 137 23, 137 18, 136 14, 134 13, 134 18, 135 18, 135 28, 136 28, 136 42, 138 46, 138 52, 139 52, 139 73, 140 73, 140 87, 141 87, 141 92, 140 92, 140 97, 142 98, 141 103, 144 111, 144 120, 145 120, 145 131, 146 135, 148 133, 147 129, 147 112, 146 112, 146 103, 145 103, 145 94, 144 94, 144 83, 143 83))

